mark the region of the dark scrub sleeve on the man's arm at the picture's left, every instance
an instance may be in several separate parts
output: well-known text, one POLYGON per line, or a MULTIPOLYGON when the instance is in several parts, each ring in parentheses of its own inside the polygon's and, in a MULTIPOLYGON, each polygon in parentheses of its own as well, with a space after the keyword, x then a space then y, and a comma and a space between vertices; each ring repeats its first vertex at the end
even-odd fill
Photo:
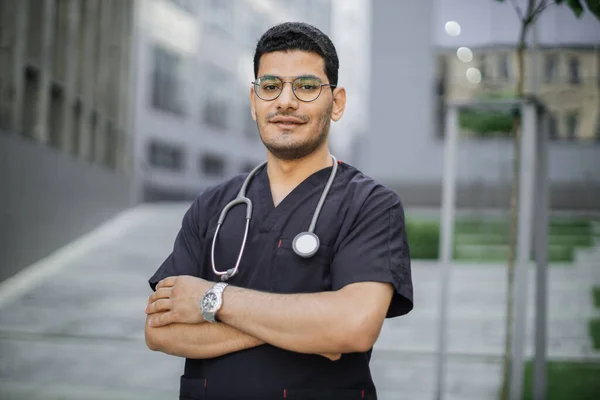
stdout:
POLYGON ((158 282, 169 276, 198 276, 203 247, 199 214, 201 213, 199 212, 199 199, 197 199, 183 217, 173 250, 148 281, 152 290, 156 290, 158 282))

